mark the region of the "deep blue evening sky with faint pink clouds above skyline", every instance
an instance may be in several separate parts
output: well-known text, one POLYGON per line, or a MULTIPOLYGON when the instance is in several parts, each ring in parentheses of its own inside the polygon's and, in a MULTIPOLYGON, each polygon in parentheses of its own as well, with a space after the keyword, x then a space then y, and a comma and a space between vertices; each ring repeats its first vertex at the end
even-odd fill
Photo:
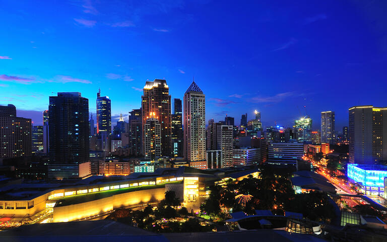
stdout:
POLYGON ((112 122, 139 108, 145 82, 183 98, 192 77, 206 119, 262 113, 291 126, 353 105, 387 106, 385 1, 0 0, 0 104, 42 123, 56 92, 78 91, 112 122), (261 3, 262 2, 262 3, 261 3), (305 107, 304 107, 305 106, 305 107))

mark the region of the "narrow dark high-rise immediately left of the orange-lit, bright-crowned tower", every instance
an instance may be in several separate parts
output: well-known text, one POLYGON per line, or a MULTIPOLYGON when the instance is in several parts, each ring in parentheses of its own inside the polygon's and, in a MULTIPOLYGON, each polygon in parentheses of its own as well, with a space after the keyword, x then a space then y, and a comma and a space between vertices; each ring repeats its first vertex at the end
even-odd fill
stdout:
POLYGON ((129 145, 132 154, 139 157, 143 154, 143 121, 141 108, 133 109, 129 115, 129 145))

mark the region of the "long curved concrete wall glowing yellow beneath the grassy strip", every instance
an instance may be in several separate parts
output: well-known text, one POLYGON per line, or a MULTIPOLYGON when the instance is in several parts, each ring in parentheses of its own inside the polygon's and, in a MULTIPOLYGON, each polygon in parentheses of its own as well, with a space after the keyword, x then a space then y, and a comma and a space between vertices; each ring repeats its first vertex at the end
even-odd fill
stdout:
POLYGON ((113 209, 148 203, 164 199, 165 188, 148 189, 136 192, 117 194, 108 198, 86 203, 55 207, 53 222, 68 222, 94 215, 102 214, 113 209))

